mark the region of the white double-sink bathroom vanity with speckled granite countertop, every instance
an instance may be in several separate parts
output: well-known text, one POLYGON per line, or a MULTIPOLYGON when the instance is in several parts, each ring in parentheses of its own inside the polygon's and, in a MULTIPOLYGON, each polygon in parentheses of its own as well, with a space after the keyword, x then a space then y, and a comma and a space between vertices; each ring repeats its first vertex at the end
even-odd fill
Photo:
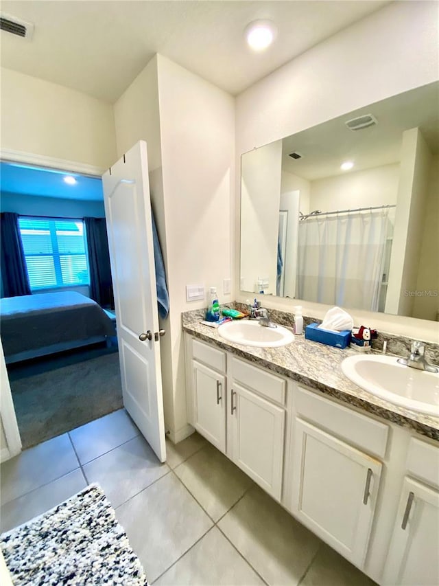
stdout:
POLYGON ((377 583, 439 583, 439 418, 351 383, 353 350, 183 328, 188 420, 204 438, 377 583))

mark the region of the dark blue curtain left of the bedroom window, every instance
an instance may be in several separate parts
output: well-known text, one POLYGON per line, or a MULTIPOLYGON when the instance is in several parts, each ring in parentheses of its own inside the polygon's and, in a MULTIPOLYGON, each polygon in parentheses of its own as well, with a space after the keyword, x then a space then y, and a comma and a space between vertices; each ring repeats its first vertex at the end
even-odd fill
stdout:
POLYGON ((0 257, 2 297, 30 295, 25 253, 19 229, 19 214, 0 214, 0 257))

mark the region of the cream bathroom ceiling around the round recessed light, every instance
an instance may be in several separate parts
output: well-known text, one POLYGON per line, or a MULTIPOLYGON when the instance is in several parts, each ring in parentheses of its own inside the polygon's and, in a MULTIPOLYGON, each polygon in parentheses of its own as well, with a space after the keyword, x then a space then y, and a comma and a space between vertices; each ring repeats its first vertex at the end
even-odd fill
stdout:
POLYGON ((3 0, 35 26, 0 32, 1 65, 115 102, 156 53, 236 95, 287 61, 388 4, 381 0, 3 0), (244 28, 270 19, 274 45, 254 53, 244 28))

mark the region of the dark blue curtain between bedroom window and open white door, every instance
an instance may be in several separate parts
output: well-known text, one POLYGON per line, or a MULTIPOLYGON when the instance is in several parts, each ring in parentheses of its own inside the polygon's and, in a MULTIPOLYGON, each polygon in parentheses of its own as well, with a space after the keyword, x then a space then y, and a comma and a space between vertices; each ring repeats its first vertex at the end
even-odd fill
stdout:
POLYGON ((105 218, 84 218, 84 223, 90 267, 90 297, 101 307, 114 308, 105 218))

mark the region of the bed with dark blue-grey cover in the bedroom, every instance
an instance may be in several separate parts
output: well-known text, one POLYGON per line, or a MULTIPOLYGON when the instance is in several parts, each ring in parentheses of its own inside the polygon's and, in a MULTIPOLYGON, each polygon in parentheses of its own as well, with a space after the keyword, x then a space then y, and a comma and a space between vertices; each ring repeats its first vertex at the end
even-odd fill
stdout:
POLYGON ((0 335, 6 363, 106 341, 114 320, 81 293, 58 291, 0 300, 0 335))

